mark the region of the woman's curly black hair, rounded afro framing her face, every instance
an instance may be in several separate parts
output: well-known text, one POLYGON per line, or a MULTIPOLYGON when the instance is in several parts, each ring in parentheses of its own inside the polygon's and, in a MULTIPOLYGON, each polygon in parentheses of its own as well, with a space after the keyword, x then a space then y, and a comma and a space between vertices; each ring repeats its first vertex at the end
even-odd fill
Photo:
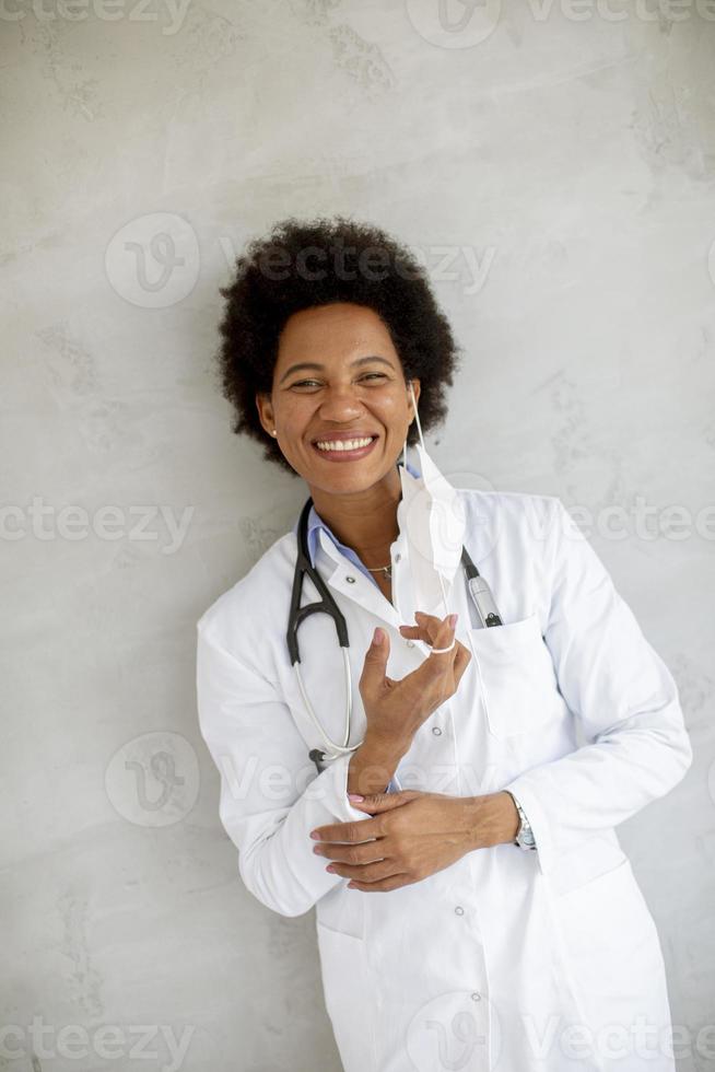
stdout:
MULTIPOLYGON (((266 461, 296 475, 263 430, 256 394, 271 393, 285 322, 315 305, 352 302, 377 313, 406 380, 420 380, 423 432, 444 421, 445 387, 453 383, 461 347, 437 306, 425 269, 382 229, 343 215, 305 222, 290 217, 248 243, 235 263, 233 281, 220 293, 226 301, 218 365, 223 396, 234 408, 232 431, 265 444, 266 461), (310 260, 325 267, 316 269, 310 260)), ((408 445, 418 436, 412 421, 408 445)))

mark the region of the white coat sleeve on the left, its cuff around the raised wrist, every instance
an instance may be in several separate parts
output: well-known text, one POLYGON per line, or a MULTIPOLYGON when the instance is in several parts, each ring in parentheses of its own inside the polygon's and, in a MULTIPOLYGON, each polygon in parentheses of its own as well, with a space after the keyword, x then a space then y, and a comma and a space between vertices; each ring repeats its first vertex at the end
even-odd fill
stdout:
POLYGON ((310 830, 371 818, 348 801, 350 756, 319 774, 274 685, 198 626, 199 727, 221 776, 219 815, 247 889, 301 916, 338 883, 310 830))

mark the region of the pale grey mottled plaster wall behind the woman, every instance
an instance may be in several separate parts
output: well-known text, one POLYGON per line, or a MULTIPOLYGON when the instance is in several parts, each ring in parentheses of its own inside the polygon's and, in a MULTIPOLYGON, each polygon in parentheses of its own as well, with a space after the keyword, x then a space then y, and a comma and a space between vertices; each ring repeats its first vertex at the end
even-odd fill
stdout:
POLYGON ((715 1068, 714 20, 7 0, 0 1069, 339 1069, 313 912, 243 888, 194 686, 197 618, 305 498, 231 434, 219 287, 331 212, 420 252, 465 348, 443 470, 590 512, 677 677, 693 766, 619 835, 679 1072, 715 1068))

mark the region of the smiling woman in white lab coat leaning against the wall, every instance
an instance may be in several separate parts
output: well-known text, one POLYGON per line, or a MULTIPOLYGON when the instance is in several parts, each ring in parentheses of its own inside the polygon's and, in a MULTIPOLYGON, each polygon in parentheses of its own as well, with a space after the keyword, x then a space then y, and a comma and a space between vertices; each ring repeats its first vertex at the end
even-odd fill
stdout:
POLYGON ((398 461, 444 419, 456 347, 407 250, 289 220, 222 294, 234 431, 307 486, 352 722, 331 755, 332 619, 302 621, 302 681, 286 646, 296 522, 198 622, 200 726, 247 888, 316 907, 344 1069, 673 1072, 660 945, 614 831, 691 764, 670 673, 560 499, 453 489, 448 533, 420 522, 429 489, 398 461), (477 614, 462 544, 502 625, 477 614))

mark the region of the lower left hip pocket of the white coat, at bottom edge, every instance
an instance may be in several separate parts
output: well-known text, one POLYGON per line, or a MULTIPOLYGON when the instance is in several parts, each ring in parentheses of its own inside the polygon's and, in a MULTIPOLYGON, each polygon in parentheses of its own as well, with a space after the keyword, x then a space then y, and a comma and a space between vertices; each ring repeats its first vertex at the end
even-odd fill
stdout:
POLYGON ((363 939, 316 920, 325 1004, 345 1072, 377 1072, 363 939))

